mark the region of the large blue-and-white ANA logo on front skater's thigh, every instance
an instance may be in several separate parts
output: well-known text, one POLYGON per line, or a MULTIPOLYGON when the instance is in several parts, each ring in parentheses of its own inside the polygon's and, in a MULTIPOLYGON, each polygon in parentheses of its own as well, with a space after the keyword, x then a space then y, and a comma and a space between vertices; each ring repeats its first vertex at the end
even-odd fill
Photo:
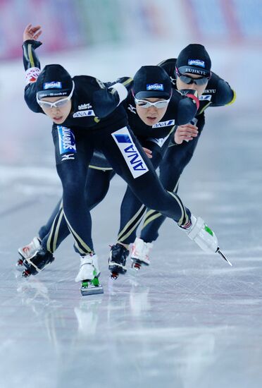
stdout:
POLYGON ((139 154, 139 150, 137 150, 128 128, 121 128, 118 131, 111 133, 111 135, 118 145, 121 154, 123 154, 132 176, 134 178, 138 178, 139 176, 146 174, 149 169, 147 168, 141 154, 139 154))

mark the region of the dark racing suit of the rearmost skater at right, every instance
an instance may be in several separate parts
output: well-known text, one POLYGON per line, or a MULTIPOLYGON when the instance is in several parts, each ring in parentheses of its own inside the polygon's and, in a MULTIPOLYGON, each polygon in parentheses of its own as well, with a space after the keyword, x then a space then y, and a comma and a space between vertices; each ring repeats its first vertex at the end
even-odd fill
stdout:
MULTIPOLYGON (((175 80, 175 63, 176 59, 168 59, 160 63, 170 79, 173 82, 173 87, 176 89, 175 80)), ((204 111, 208 107, 222 107, 227 104, 232 104, 235 101, 235 92, 230 85, 220 78, 215 73, 212 73, 210 80, 206 86, 203 95, 199 97, 199 109, 196 116, 191 121, 192 124, 198 127, 199 134, 193 140, 188 142, 183 141, 182 144, 176 145, 173 141, 170 142, 168 151, 159 166, 159 178, 164 188, 168 191, 177 193, 178 183, 182 171, 190 162, 199 141, 199 137, 204 128, 205 116, 204 111), (172 172, 171 172, 172 171, 172 172)), ((141 238, 146 242, 155 241, 158 238, 158 229, 163 224, 166 217, 156 212, 156 210, 147 210, 142 226, 141 238)))

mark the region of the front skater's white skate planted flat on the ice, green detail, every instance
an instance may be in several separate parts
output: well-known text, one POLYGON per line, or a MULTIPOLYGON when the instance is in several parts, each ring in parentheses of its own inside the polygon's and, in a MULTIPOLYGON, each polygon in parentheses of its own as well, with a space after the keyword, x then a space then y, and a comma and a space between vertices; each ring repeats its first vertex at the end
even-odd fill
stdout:
POLYGON ((75 281, 82 281, 82 296, 94 293, 104 293, 103 286, 99 284, 99 265, 96 255, 80 257, 80 269, 75 281))

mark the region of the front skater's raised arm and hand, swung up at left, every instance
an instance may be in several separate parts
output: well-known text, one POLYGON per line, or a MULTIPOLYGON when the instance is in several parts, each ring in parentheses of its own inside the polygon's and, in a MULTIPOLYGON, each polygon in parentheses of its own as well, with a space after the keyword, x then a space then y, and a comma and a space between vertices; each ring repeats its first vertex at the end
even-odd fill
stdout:
POLYGON ((37 39, 42 30, 39 25, 32 27, 27 25, 23 32, 23 63, 25 68, 25 102, 27 106, 35 112, 42 112, 36 99, 36 81, 40 73, 40 61, 35 49, 41 46, 42 42, 37 39))

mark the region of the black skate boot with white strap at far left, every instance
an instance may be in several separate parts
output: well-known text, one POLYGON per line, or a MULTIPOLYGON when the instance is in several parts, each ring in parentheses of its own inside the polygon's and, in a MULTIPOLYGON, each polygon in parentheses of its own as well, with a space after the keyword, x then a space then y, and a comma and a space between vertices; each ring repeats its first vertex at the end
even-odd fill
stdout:
POLYGON ((54 256, 48 250, 40 248, 35 252, 32 257, 27 257, 23 260, 25 270, 23 271, 22 277, 29 277, 30 275, 36 275, 42 271, 46 265, 54 261, 54 256))

